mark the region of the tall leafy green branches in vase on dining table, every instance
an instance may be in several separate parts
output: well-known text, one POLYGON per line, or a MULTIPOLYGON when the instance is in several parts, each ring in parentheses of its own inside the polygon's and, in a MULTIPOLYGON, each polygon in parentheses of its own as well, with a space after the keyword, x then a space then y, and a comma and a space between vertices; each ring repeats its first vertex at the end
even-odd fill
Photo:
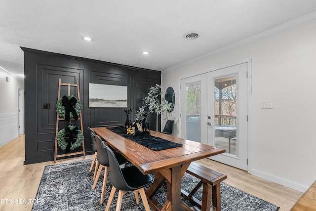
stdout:
POLYGON ((164 93, 161 92, 161 85, 156 84, 150 87, 147 97, 143 99, 144 106, 140 107, 136 112, 136 118, 139 119, 140 116, 145 115, 145 108, 148 108, 149 113, 156 114, 156 131, 158 131, 158 116, 165 111, 170 109, 171 102, 169 103, 164 99, 164 93))

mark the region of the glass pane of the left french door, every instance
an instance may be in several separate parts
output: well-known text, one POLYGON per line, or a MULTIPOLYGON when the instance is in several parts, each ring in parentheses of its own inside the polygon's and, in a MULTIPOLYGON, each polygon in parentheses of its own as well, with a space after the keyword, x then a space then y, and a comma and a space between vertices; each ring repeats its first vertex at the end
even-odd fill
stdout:
POLYGON ((200 142, 200 87, 201 84, 186 84, 186 139, 200 142))

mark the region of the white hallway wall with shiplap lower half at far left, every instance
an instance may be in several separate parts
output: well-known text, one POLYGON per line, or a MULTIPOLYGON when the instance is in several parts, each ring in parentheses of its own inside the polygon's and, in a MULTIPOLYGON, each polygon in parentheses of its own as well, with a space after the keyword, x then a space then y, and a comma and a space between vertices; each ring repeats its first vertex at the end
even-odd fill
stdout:
POLYGON ((19 88, 24 84, 0 68, 0 147, 19 137, 19 88))

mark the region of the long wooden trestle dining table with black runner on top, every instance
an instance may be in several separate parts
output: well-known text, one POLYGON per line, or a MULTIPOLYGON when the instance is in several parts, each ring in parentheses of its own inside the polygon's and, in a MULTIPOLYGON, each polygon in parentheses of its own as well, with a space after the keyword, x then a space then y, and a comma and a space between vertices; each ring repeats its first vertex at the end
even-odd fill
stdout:
POLYGON ((182 146, 153 151, 107 127, 93 127, 97 135, 117 150, 143 174, 155 172, 155 180, 146 191, 147 199, 154 211, 192 211, 181 200, 181 179, 193 161, 224 153, 225 150, 191 140, 151 131, 152 136, 160 137, 182 146), (167 200, 161 205, 155 199, 160 186, 167 183, 167 200))

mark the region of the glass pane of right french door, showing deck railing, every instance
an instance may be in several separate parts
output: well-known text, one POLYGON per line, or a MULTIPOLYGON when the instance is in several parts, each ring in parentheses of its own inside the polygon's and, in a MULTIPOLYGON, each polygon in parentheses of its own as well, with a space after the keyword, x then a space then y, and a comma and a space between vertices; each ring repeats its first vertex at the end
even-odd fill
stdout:
POLYGON ((214 80, 215 146, 237 155, 236 76, 214 80))

